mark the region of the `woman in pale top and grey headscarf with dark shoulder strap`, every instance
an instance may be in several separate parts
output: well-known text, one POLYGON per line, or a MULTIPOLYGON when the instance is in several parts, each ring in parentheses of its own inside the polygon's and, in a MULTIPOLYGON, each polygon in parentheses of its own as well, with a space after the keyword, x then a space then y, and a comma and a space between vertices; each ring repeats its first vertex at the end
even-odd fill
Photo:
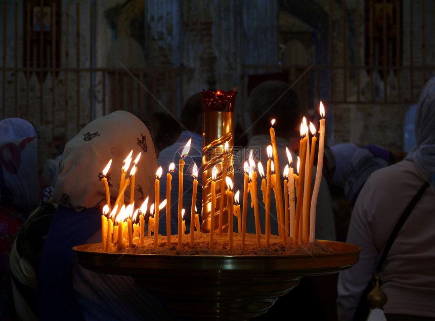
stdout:
MULTIPOLYGON (((428 182, 397 235, 380 275, 388 320, 435 318, 435 77, 420 94, 415 118, 417 145, 402 162, 375 171, 352 213, 346 242, 362 247, 360 260, 340 272, 338 319, 352 320, 375 261, 411 199, 428 182)), ((365 299, 365 298, 364 298, 365 299)))

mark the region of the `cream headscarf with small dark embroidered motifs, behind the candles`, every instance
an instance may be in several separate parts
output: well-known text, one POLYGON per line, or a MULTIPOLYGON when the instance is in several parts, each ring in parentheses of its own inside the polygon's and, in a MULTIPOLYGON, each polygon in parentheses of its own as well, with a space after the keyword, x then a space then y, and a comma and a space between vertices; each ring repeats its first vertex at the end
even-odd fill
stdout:
MULTIPOLYGON (((135 178, 135 205, 140 207, 147 196, 153 199, 157 158, 150 133, 135 115, 119 110, 95 119, 66 144, 53 201, 77 210, 96 207, 106 198, 101 179, 110 159, 112 165, 106 176, 110 196, 116 198, 123 160, 132 149, 133 160, 142 152, 135 178)), ((130 186, 124 202, 129 201, 129 195, 130 186)))

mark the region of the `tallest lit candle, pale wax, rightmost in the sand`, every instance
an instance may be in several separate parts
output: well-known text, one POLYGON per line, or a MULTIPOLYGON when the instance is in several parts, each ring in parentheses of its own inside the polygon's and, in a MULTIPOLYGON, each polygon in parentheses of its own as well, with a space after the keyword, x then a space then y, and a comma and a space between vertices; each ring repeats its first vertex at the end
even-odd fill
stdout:
POLYGON ((310 221, 310 242, 315 240, 315 227, 316 227, 316 207, 317 207, 317 196, 319 195, 320 181, 322 179, 322 169, 323 169, 323 150, 325 145, 325 107, 323 107, 322 102, 320 102, 320 128, 319 128, 319 154, 317 155, 317 172, 316 181, 314 182, 313 197, 311 200, 311 221, 310 221))

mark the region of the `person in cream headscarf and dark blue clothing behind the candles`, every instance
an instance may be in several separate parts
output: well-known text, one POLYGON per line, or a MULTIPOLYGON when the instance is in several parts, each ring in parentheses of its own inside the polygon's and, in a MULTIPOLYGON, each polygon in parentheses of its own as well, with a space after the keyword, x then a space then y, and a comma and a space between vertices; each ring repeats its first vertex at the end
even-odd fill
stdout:
MULTIPOLYGON (((39 319, 143 319, 164 317, 155 299, 128 276, 100 274, 75 263, 72 247, 101 242, 101 215, 106 193, 117 197, 123 160, 141 153, 135 179, 135 205, 154 197, 157 159, 143 122, 126 111, 115 111, 85 126, 65 146, 53 201, 59 204, 43 249, 37 284, 39 319)), ((131 168, 131 167, 130 167, 131 168)), ((126 177, 128 177, 126 173, 126 177)), ((124 193, 129 203, 130 186, 124 193)))

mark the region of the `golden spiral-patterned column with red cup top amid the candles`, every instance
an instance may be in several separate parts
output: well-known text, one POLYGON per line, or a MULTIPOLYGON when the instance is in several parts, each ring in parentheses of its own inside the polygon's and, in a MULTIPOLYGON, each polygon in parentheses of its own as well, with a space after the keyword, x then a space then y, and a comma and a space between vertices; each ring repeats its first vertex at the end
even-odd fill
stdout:
MULTIPOLYGON (((221 209, 221 193, 224 173, 232 180, 233 146, 234 146, 234 102, 237 92, 234 91, 204 91, 201 92, 202 113, 202 231, 210 231, 210 219, 214 219, 214 229, 219 228, 219 212, 221 209), (227 167, 224 168, 224 145, 228 142, 227 167), (216 206, 211 213, 211 175, 216 165, 220 169, 216 177, 216 206)), ((223 204, 223 231, 228 231, 227 202, 223 204)))

